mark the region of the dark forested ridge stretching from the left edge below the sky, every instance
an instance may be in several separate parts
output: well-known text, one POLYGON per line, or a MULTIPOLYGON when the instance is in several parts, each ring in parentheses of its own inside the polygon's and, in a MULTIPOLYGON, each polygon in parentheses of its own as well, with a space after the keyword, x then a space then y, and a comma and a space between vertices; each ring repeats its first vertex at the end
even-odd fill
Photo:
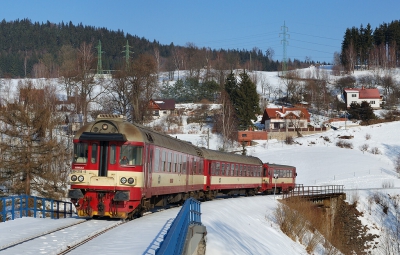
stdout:
MULTIPOLYGON (((99 42, 103 70, 118 69, 125 60, 126 51, 133 59, 143 53, 155 56, 159 71, 190 70, 210 65, 276 71, 280 66, 279 61, 272 60, 273 53, 263 53, 258 48, 251 51, 214 50, 199 48, 193 43, 162 45, 120 30, 111 31, 82 23, 39 23, 23 19, 0 23, 0 77, 57 78, 63 61, 60 56, 63 46, 78 49, 83 43, 92 44, 93 51, 98 54, 99 42)), ((289 63, 297 67, 301 64, 296 59, 289 63)))

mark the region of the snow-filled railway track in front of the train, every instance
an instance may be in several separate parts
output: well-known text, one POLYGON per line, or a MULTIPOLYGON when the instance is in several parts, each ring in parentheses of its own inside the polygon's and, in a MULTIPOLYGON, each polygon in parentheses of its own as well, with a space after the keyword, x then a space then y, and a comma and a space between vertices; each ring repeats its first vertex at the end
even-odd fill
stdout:
POLYGON ((125 222, 106 220, 82 220, 74 224, 29 236, 0 247, 0 253, 6 254, 67 254, 80 245, 117 227, 125 222), (78 229, 79 231, 75 231, 78 229), (40 243, 41 245, 37 245, 40 243))

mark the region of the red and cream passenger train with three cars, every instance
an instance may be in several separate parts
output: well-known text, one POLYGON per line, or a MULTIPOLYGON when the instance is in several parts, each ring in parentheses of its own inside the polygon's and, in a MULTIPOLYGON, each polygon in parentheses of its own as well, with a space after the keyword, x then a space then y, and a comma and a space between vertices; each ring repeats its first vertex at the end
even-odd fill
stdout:
POLYGON ((68 197, 80 217, 133 219, 189 197, 285 192, 296 168, 198 147, 123 115, 100 114, 73 137, 68 197))

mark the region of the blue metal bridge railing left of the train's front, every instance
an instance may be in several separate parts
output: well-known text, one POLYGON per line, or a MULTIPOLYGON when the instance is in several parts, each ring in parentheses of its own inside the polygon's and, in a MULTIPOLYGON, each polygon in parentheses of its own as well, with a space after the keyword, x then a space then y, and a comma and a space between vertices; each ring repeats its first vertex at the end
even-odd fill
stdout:
POLYGON ((0 222, 22 217, 59 219, 72 216, 72 203, 28 195, 0 197, 0 222))

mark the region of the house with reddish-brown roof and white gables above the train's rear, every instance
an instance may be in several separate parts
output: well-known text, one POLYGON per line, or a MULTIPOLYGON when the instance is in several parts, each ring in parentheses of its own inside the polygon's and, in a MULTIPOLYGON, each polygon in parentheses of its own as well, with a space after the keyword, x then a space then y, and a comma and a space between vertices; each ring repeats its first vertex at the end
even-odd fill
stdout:
POLYGON ((267 131, 274 129, 294 130, 306 128, 310 122, 310 114, 302 107, 265 108, 261 123, 267 131))

